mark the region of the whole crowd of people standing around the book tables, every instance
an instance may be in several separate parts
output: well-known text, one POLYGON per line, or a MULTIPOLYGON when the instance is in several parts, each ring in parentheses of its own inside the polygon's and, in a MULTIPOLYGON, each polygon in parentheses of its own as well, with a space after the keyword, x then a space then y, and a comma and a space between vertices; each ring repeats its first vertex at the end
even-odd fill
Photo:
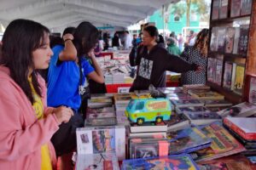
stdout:
MULTIPOLYGON (((183 84, 205 83, 208 30, 199 32, 183 52, 180 38, 172 35, 166 48, 155 26, 133 39, 125 32, 124 43, 114 35, 114 47, 133 46, 130 63, 137 65, 137 76, 131 91, 150 84, 165 87, 166 71, 181 72, 183 84)), ((96 54, 108 48, 108 39, 90 22, 67 28, 51 42, 49 29, 38 22, 13 20, 7 26, 0 46, 1 169, 55 169, 56 156, 61 169, 72 168, 75 130, 84 125, 88 87, 96 83, 102 88, 94 93, 106 93, 96 54), (48 67, 41 77, 39 71, 48 67)))

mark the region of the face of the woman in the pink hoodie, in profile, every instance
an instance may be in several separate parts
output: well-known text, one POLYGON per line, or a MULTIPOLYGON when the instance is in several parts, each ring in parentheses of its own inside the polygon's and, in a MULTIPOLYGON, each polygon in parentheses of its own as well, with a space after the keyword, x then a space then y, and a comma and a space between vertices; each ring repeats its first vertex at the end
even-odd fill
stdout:
POLYGON ((42 45, 32 52, 32 59, 35 69, 47 69, 50 57, 53 55, 49 48, 49 35, 45 34, 42 45))

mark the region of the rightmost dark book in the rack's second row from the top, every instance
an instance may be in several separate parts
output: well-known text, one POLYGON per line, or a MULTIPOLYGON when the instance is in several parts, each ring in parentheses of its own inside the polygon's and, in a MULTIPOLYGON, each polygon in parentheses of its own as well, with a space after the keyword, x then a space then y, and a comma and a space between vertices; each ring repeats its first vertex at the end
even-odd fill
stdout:
POLYGON ((240 37, 238 42, 238 54, 242 54, 243 56, 247 55, 247 43, 249 40, 249 26, 241 26, 240 27, 240 37))

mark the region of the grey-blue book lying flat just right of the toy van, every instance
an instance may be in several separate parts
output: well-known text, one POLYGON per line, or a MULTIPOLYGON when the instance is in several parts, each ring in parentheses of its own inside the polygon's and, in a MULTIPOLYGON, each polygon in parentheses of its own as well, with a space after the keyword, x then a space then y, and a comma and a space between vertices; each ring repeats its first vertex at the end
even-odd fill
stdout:
POLYGON ((189 118, 191 124, 206 125, 212 122, 221 121, 221 116, 211 111, 184 111, 185 116, 189 118))

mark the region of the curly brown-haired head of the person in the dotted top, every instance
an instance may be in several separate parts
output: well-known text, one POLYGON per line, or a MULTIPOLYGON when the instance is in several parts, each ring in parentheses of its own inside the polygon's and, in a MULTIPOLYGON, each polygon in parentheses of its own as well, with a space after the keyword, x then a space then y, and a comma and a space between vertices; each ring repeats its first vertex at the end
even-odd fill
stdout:
POLYGON ((201 51, 201 54, 207 56, 208 53, 209 30, 202 29, 196 36, 194 48, 201 51))

